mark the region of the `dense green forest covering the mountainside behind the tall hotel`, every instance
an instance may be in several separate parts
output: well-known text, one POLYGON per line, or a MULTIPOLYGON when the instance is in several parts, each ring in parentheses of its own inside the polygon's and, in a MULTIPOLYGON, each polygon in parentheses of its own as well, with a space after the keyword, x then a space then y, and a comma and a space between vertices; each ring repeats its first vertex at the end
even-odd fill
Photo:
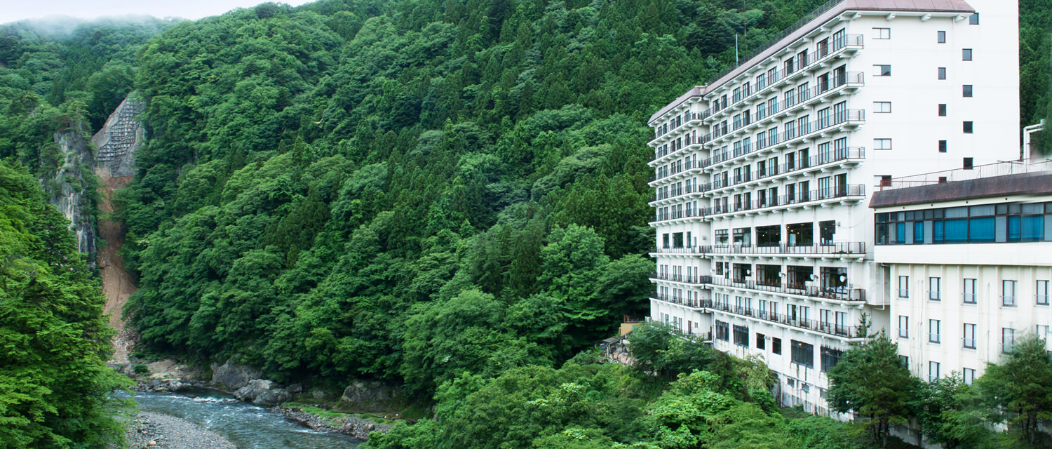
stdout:
MULTIPOLYGON (((581 353, 647 309, 646 119, 733 62, 735 35, 753 49, 822 3, 321 0, 6 25, 0 158, 46 178, 52 132, 98 129, 137 90, 149 141, 118 218, 144 350, 379 379, 443 417, 377 447, 856 447, 856 428, 750 392, 755 364, 655 336, 654 384, 581 353)), ((1024 124, 1052 100, 1048 11, 1020 1, 1024 124)))

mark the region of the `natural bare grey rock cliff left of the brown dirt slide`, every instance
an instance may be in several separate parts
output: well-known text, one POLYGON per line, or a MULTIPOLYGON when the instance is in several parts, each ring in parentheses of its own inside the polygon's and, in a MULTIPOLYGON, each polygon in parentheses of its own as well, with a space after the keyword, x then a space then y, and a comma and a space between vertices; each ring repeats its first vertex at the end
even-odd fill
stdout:
POLYGON ((95 268, 95 217, 92 213, 92 195, 85 177, 90 176, 95 160, 84 138, 83 124, 69 126, 55 132, 55 143, 62 158, 62 166, 53 180, 41 180, 50 193, 50 202, 69 220, 69 229, 77 236, 77 250, 87 252, 88 268, 95 268))

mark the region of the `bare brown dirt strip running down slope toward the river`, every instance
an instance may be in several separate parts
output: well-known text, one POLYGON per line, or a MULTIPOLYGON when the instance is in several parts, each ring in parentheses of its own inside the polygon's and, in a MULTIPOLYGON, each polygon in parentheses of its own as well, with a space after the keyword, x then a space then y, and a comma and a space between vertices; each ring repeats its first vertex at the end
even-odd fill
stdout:
MULTIPOLYGON (((123 188, 133 177, 110 178, 108 169, 96 170, 96 175, 102 179, 102 204, 99 209, 104 213, 114 211, 110 202, 114 191, 123 188)), ((109 325, 117 329, 117 336, 114 338, 114 355, 110 363, 127 364, 128 351, 135 345, 138 335, 130 328, 124 328, 124 317, 121 310, 127 303, 128 297, 135 293, 136 285, 132 277, 124 270, 124 261, 121 260, 120 251, 124 246, 124 233, 121 224, 99 218, 99 237, 106 244, 99 248, 98 263, 99 273, 102 275, 102 293, 106 295, 106 306, 104 313, 109 314, 109 325)))

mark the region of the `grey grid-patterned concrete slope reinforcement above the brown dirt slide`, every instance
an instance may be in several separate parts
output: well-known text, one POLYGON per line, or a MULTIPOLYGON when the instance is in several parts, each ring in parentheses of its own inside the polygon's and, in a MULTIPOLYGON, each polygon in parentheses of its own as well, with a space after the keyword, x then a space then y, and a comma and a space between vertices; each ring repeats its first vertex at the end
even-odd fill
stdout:
POLYGON ((146 140, 142 121, 139 120, 142 110, 142 101, 133 94, 117 106, 102 129, 92 137, 92 143, 98 148, 96 160, 100 176, 120 178, 135 175, 135 152, 146 140))

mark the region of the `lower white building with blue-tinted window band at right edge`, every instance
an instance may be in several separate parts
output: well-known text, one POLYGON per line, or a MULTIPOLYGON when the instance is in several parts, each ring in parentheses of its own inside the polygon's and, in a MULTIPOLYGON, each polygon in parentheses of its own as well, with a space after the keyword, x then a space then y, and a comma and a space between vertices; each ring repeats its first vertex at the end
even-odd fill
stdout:
MULTIPOLYGON (((1005 171, 995 167, 982 168, 1005 171)), ((1052 163, 1011 168, 1017 174, 873 193, 888 335, 920 379, 955 371, 970 384, 1020 336, 1048 340, 1052 163)))

